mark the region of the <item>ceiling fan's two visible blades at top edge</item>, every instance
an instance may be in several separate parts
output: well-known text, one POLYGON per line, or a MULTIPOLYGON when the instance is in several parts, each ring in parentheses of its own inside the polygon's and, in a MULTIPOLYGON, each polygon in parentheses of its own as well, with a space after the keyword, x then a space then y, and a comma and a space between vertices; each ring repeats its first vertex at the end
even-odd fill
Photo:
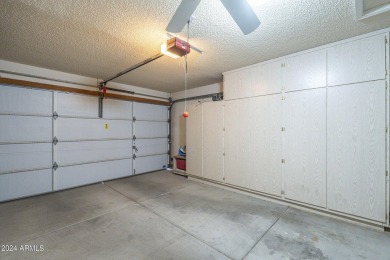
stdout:
MULTIPOLYGON (((201 0, 182 0, 165 30, 171 33, 181 32, 190 20, 196 7, 198 7, 200 1, 201 0)), ((220 1, 245 35, 253 32, 259 27, 260 21, 246 0, 220 1)))

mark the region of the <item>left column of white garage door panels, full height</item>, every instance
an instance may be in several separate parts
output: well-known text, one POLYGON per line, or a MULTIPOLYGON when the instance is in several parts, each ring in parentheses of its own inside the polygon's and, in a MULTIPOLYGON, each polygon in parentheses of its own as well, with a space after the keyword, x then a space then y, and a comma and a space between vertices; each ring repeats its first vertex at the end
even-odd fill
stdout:
POLYGON ((50 192, 53 93, 0 88, 0 201, 50 192))

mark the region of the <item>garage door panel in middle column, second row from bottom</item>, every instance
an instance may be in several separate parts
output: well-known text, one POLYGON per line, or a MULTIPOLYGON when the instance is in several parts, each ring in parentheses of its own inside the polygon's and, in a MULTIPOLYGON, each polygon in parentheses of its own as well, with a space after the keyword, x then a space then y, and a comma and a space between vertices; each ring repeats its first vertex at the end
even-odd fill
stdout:
POLYGON ((132 141, 60 142, 56 154, 60 166, 132 158, 132 141))

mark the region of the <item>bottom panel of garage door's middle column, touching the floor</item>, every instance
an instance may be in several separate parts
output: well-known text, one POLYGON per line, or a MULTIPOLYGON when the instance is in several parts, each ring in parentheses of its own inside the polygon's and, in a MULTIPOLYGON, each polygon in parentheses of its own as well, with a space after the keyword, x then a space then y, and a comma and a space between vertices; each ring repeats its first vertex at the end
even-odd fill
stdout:
POLYGON ((132 159, 59 167, 55 171, 57 189, 126 177, 132 174, 132 159))

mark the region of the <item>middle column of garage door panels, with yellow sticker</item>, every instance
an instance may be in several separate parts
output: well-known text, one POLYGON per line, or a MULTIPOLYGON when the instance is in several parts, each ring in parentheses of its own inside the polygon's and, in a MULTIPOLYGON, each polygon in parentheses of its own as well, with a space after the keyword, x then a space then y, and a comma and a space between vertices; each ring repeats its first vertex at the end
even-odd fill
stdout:
POLYGON ((55 93, 55 190, 129 176, 132 160, 132 102, 55 93))

